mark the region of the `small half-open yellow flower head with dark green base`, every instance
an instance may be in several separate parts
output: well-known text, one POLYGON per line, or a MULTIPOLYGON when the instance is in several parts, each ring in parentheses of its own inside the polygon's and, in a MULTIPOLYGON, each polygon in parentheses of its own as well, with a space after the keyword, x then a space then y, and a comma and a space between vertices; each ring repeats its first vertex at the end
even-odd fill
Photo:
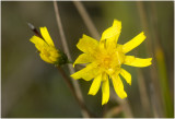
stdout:
POLYGON ((47 27, 40 27, 40 34, 43 38, 33 36, 30 39, 33 44, 35 44, 35 47, 39 51, 40 58, 48 63, 58 66, 67 63, 67 56, 60 50, 56 49, 47 27))

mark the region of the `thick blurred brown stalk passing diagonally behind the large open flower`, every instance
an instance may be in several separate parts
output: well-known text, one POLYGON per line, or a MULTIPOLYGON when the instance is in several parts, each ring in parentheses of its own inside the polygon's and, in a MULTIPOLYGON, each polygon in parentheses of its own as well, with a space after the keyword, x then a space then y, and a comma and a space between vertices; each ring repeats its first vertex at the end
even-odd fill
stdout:
MULTIPOLYGON (((78 9, 82 20, 84 21, 85 25, 88 26, 88 29, 89 32, 91 33, 91 35, 96 38, 96 39, 100 39, 100 34, 97 32, 97 29, 95 28, 95 25, 93 24, 89 13, 86 12, 84 5, 80 2, 80 1, 73 1, 75 8, 78 9)), ((113 90, 110 90, 113 91, 113 90)), ((114 95, 116 95, 115 93, 113 93, 114 95)), ((127 117, 130 117, 132 118, 132 112, 131 112, 131 109, 130 109, 130 106, 128 104, 128 100, 127 99, 116 99, 115 100, 119 102, 119 104, 122 106, 122 111, 125 112, 125 115, 127 117)))

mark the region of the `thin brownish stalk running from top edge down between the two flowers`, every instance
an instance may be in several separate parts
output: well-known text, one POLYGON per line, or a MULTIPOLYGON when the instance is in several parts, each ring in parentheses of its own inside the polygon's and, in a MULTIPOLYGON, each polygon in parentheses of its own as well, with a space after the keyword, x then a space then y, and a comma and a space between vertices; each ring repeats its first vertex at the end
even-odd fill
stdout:
MULTIPOLYGON (((67 44, 67 39, 66 39, 65 33, 63 33, 61 19, 60 19, 60 14, 59 14, 59 9, 58 9, 58 5, 57 5, 56 1, 54 1, 54 9, 55 9, 58 29, 59 29, 60 37, 61 37, 61 43, 62 43, 62 46, 63 46, 63 51, 65 51, 65 53, 67 53, 68 59, 70 61, 72 61, 71 55, 70 55, 70 51, 69 51, 69 47, 68 47, 68 44, 67 44)), ((68 68, 70 70, 71 74, 75 72, 74 69, 72 68, 72 66, 69 64, 68 68)), ((80 90, 78 81, 72 79, 72 84, 73 84, 74 92, 75 92, 77 99, 78 99, 79 104, 81 102, 81 104, 83 104, 85 106, 84 99, 83 99, 83 96, 82 96, 82 93, 81 93, 81 90, 80 90)), ((82 106, 81 106, 81 112, 82 112, 82 116, 85 117, 85 118, 91 117, 90 111, 88 109, 84 109, 82 106)))

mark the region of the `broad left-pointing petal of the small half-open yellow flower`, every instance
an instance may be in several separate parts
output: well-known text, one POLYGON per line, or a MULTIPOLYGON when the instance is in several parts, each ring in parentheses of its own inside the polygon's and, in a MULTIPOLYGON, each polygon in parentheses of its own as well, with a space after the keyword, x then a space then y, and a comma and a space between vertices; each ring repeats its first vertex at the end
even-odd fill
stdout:
POLYGON ((48 45, 39 37, 33 36, 30 39, 33 44, 35 44, 35 47, 40 51, 43 48, 48 47, 48 45))

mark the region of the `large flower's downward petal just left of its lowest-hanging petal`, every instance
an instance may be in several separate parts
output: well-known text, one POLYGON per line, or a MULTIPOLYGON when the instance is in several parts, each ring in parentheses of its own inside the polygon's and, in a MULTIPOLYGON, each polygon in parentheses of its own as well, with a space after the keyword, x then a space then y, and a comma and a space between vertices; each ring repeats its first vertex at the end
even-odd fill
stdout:
POLYGON ((90 87, 90 91, 89 91, 89 95, 96 95, 97 91, 100 90, 100 86, 101 86, 101 81, 102 81, 102 74, 97 75, 91 87, 90 87))

